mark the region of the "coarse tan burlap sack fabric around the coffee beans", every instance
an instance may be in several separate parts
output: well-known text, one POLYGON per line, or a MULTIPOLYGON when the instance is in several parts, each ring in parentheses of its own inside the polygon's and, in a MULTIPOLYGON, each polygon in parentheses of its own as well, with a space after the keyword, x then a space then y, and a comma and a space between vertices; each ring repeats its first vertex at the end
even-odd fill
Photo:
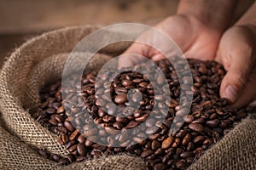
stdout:
MULTIPOLYGON (((45 84, 61 78, 67 54, 97 27, 72 27, 51 31, 33 38, 18 48, 3 65, 0 73, 0 111, 4 127, 0 127, 0 169, 143 169, 142 159, 134 156, 108 156, 97 160, 61 167, 38 156, 33 148, 46 148, 65 155, 68 151, 57 143, 57 136, 34 121, 29 109, 39 104, 38 91, 45 84)), ((122 33, 117 32, 117 36, 122 33)), ((102 37, 104 38, 104 37, 102 37)), ((94 42, 91 42, 94 43, 94 42)), ((104 48, 90 61, 96 70, 130 45, 120 42, 104 48), (109 56, 107 56, 108 54, 109 56)), ((86 54, 85 54, 86 55, 86 54)), ((247 118, 224 139, 213 146, 190 169, 255 168, 255 120, 247 118)))

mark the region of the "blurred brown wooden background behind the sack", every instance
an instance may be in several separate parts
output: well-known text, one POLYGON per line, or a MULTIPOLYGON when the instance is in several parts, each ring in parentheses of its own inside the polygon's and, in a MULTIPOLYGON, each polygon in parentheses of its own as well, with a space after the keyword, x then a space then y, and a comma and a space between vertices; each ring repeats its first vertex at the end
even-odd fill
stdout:
MULTIPOLYGON (((177 3, 178 0, 0 0, 0 67, 20 43, 43 31, 119 22, 152 26, 175 14, 177 3)), ((253 0, 240 0, 236 18, 252 3, 253 0)))

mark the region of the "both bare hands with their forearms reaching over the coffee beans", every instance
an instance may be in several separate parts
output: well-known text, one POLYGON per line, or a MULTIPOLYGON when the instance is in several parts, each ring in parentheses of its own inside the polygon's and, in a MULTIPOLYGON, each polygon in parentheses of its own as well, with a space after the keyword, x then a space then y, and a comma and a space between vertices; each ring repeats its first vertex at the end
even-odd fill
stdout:
MULTIPOLYGON (((220 96, 228 99, 231 106, 241 107, 256 96, 253 87, 256 84, 256 3, 230 26, 235 7, 234 0, 182 0, 177 14, 154 28, 172 37, 187 58, 215 59, 222 63, 227 75, 221 83, 220 96)), ((152 31, 145 32, 137 40, 162 45, 152 31)), ((166 54, 171 55, 173 50, 166 48, 166 54)), ((124 54, 139 54, 154 61, 165 59, 155 48, 139 42, 134 42, 124 54)), ((139 62, 136 57, 123 57, 119 59, 119 67, 139 62)))

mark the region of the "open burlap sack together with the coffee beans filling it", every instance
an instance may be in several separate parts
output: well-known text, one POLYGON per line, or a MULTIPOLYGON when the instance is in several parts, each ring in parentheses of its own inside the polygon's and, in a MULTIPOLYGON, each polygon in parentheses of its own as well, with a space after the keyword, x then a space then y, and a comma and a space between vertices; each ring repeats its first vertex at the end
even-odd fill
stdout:
MULTIPOLYGON (((185 76, 180 81, 193 84, 184 89, 193 95, 189 110, 180 94, 177 72, 166 60, 157 63, 167 82, 160 89, 152 88, 149 78, 137 71, 125 71, 111 83, 96 85, 101 65, 121 54, 130 42, 102 49, 80 82, 70 79, 77 90, 62 92, 60 81, 68 54, 97 29, 73 27, 46 33, 26 42, 3 65, 0 167, 236 169, 255 165, 256 123, 248 116, 254 109, 230 109, 226 99, 220 99, 225 71, 215 61, 188 59, 193 82, 185 76), (107 92, 110 98, 103 95, 107 92), (65 100, 63 93, 68 94, 65 100), (137 102, 139 107, 133 105, 137 102), (86 122, 88 116, 92 122, 86 122), (172 127, 177 132, 172 133, 172 127)), ((111 69, 105 72, 102 80, 108 80, 111 69)))

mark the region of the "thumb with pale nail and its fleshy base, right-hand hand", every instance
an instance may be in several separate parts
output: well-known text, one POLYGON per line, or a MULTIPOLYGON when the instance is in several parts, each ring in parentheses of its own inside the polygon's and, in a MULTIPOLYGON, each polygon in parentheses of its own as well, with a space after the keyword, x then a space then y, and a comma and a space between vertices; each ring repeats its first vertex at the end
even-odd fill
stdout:
POLYGON ((220 96, 230 103, 236 102, 241 95, 254 64, 253 39, 250 35, 246 27, 236 26, 224 33, 219 43, 217 59, 227 70, 221 83, 220 96))

